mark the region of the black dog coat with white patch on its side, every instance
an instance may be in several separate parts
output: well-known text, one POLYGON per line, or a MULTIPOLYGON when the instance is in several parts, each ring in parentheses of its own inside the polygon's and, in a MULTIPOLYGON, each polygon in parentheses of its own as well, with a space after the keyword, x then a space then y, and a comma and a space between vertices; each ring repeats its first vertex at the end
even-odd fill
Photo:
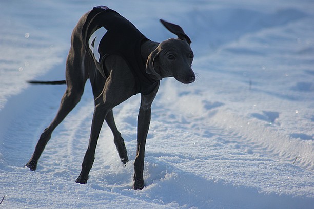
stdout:
POLYGON ((85 48, 93 57, 100 74, 107 78, 105 58, 110 54, 123 57, 136 80, 136 93, 149 94, 158 85, 145 71, 141 45, 148 41, 135 26, 114 10, 94 7, 82 29, 85 48))

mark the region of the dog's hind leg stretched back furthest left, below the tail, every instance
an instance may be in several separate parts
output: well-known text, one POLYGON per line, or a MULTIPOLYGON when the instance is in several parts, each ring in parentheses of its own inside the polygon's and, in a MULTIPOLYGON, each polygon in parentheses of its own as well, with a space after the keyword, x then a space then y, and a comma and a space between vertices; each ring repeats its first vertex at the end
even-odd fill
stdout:
POLYGON ((81 49, 78 48, 78 45, 80 45, 80 43, 78 41, 75 42, 75 37, 72 37, 72 46, 66 62, 67 89, 62 97, 55 118, 48 128, 41 134, 32 157, 25 165, 32 171, 36 170, 38 160, 43 153, 47 142, 51 138, 53 130, 81 100, 88 74, 84 70, 84 56, 82 56, 82 53, 85 52, 83 52, 83 50, 81 51, 81 49), (76 47, 73 47, 73 45, 76 47))

